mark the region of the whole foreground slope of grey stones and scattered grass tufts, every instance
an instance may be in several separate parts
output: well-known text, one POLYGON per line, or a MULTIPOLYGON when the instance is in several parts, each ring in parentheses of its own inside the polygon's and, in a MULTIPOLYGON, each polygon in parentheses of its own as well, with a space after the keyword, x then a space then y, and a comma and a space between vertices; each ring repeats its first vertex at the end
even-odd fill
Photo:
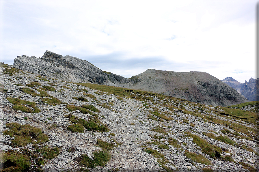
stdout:
POLYGON ((0 72, 1 171, 259 170, 256 113, 0 72))

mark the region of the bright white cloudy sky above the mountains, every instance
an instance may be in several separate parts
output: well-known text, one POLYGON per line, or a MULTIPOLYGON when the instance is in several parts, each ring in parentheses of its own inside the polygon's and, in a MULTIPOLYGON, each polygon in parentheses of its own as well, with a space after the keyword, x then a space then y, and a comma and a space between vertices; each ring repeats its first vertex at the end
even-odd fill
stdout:
POLYGON ((255 78, 256 0, 0 0, 0 61, 46 50, 126 78, 149 68, 255 78))

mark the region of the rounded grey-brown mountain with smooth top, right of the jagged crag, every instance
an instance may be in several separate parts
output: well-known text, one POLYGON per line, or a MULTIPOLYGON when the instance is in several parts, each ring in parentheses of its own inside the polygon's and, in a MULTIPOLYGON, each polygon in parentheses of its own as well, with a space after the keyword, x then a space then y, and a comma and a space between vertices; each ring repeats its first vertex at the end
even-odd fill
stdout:
POLYGON ((167 96, 214 106, 231 106, 248 100, 205 72, 173 72, 148 69, 133 77, 133 89, 153 91, 167 96))

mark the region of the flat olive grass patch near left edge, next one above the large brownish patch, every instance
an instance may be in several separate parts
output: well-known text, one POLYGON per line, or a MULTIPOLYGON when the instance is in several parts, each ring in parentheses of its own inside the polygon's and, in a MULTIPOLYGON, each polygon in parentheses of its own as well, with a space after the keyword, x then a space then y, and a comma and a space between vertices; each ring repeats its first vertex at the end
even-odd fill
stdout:
POLYGON ((11 97, 8 97, 6 99, 10 103, 15 104, 13 106, 13 108, 16 109, 17 111, 20 110, 20 111, 26 112, 26 113, 38 113, 38 112, 40 112, 40 109, 36 106, 35 102, 29 102, 27 100, 21 100, 19 98, 11 98, 11 97), (24 106, 24 105, 30 106, 33 109, 30 109, 29 107, 24 106))

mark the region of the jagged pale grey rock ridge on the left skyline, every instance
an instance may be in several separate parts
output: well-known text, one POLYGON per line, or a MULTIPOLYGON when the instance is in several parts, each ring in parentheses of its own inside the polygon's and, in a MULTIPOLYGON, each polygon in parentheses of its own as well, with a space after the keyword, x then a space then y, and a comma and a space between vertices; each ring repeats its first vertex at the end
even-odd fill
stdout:
POLYGON ((35 74, 48 76, 62 81, 96 83, 111 86, 129 87, 132 84, 127 78, 105 72, 86 60, 77 57, 62 56, 46 51, 42 58, 17 56, 14 67, 35 74))

